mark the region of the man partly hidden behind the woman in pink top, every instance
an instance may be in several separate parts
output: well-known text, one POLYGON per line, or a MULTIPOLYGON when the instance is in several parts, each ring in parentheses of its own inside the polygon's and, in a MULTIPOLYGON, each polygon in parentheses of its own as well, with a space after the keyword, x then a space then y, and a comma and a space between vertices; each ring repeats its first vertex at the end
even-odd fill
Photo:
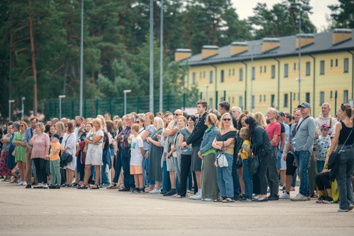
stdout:
MULTIPOLYGON (((35 132, 35 125, 38 123, 37 117, 32 117, 29 119, 31 122, 31 127, 28 127, 25 132, 25 145, 26 145, 26 188, 31 188, 32 187, 32 159, 31 159, 31 154, 32 154, 32 145, 29 143, 29 140, 31 140, 33 136, 33 132, 35 132)), ((35 179, 35 178, 34 178, 35 179)), ((38 180, 37 180, 38 181, 38 180)))

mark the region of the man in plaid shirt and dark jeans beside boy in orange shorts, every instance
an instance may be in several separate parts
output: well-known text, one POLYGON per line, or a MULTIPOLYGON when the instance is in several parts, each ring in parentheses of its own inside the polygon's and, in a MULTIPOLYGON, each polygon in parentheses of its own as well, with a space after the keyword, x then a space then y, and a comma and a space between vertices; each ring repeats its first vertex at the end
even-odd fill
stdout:
POLYGON ((130 174, 130 144, 128 143, 128 137, 130 136, 130 126, 133 124, 133 116, 126 115, 123 122, 126 123, 125 129, 123 129, 117 136, 117 141, 122 147, 121 162, 123 167, 124 176, 124 187, 121 188, 120 192, 128 192, 129 190, 134 190, 134 176, 130 174))

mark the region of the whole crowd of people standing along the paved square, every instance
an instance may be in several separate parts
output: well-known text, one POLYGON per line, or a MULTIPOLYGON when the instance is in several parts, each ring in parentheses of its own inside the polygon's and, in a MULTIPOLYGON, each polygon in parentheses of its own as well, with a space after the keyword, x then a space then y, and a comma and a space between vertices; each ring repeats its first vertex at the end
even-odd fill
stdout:
POLYGON ((301 103, 292 114, 251 114, 222 102, 197 113, 131 112, 122 118, 31 117, 0 129, 0 176, 25 188, 76 187, 162 194, 214 202, 279 199, 354 208, 354 108, 336 117, 322 105, 314 118, 301 103), (28 126, 29 125, 29 126, 28 126), (300 180, 299 193, 295 191, 300 180))

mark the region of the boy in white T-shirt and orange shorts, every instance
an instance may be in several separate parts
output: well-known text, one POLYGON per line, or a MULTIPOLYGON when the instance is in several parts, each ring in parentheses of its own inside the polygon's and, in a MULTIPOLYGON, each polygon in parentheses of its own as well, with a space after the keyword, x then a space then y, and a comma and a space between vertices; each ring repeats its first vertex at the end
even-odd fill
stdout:
POLYGON ((144 194, 143 157, 145 155, 143 139, 139 136, 139 125, 131 125, 130 174, 134 175, 135 190, 133 193, 144 194))

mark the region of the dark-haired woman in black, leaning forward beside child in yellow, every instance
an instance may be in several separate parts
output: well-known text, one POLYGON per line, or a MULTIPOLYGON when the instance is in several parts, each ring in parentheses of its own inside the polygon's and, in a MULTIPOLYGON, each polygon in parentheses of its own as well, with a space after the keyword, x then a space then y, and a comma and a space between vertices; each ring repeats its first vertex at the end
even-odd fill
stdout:
MULTIPOLYGON (((253 181, 257 181, 259 183, 259 189, 253 190, 255 194, 259 194, 259 196, 255 197, 255 202, 268 202, 267 197, 267 187, 268 187, 268 179, 267 179, 267 169, 269 160, 272 157, 272 147, 271 142, 268 137, 267 131, 256 123, 256 120, 253 117, 247 117, 245 120, 246 128, 249 130, 251 134, 251 145, 245 148, 246 152, 252 150, 254 156, 258 157, 259 166, 257 173, 254 174, 253 181)), ((258 186, 258 184, 255 184, 258 186)))

